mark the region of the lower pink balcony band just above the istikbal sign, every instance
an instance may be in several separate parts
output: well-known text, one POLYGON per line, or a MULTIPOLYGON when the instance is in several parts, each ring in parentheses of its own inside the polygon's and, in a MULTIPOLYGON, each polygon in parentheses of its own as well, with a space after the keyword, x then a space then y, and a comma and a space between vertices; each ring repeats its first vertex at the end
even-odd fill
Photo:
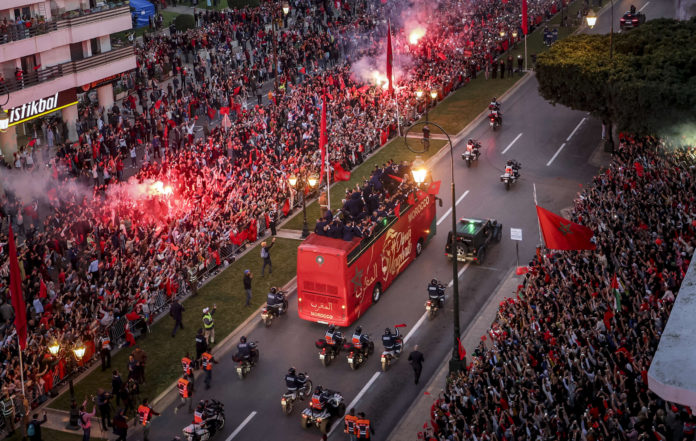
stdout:
POLYGON ((79 61, 69 61, 29 72, 21 80, 8 78, 3 85, 10 92, 10 102, 4 107, 22 105, 37 97, 49 96, 71 87, 80 87, 111 75, 127 72, 135 67, 133 47, 125 46, 79 61))

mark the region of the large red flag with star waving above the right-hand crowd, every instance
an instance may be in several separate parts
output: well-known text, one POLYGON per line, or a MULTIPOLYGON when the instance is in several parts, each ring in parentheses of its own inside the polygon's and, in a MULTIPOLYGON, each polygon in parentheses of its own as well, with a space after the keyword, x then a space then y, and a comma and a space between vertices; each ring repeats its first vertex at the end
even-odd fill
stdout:
POLYGON ((590 241, 594 232, 537 205, 539 226, 544 234, 546 247, 551 250, 594 250, 597 246, 590 241))

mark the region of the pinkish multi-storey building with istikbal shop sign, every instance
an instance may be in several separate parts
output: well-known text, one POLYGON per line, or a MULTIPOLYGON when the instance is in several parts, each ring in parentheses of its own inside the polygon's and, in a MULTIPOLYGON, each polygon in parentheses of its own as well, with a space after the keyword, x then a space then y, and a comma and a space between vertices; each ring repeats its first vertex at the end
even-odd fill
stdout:
POLYGON ((6 161, 35 136, 37 118, 61 118, 67 139, 77 140, 82 93, 96 89, 101 107, 113 104, 114 80, 136 62, 133 47, 112 44, 111 34, 131 27, 127 0, 0 1, 0 104, 10 118, 0 133, 6 161))

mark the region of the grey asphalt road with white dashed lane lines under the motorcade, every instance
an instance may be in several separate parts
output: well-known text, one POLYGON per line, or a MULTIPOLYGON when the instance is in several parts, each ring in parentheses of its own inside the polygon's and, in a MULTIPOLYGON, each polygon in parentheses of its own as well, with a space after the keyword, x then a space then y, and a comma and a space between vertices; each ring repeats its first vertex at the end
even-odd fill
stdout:
MULTIPOLYGON (((648 18, 673 14, 663 2, 646 2, 648 18), (653 9, 654 8, 654 9, 653 9)), ((636 2, 641 8, 642 2, 636 2)), ((618 28, 619 13, 627 10, 629 2, 617 2, 615 20, 618 28)), ((593 32, 608 30, 608 13, 602 15, 593 32)), ((588 161, 601 134, 600 123, 584 112, 561 106, 551 106, 539 97, 534 78, 503 102, 505 125, 493 133, 487 121, 474 127, 471 137, 479 139, 483 156, 470 169, 460 159, 463 144, 455 146, 455 181, 457 215, 495 217, 504 226, 504 239, 489 250, 481 266, 461 266, 460 304, 464 330, 477 311, 501 282, 504 270, 515 265, 515 244, 509 239, 509 228, 522 228, 524 240, 520 243, 522 262, 529 258, 539 242, 534 210, 533 186, 536 185, 540 205, 555 212, 571 204, 573 197, 596 173, 597 166, 588 161), (510 191, 505 191, 499 175, 507 158, 522 163, 522 177, 510 191), (465 196, 464 196, 465 195, 465 196)), ((385 326, 406 323, 407 351, 417 343, 425 354, 423 378, 431 376, 437 365, 452 347, 451 289, 448 289, 446 310, 433 321, 421 321, 428 281, 435 277, 450 282, 451 266, 443 255, 447 226, 449 225, 449 170, 448 155, 438 160, 432 170, 435 179, 442 179, 441 197, 444 206, 438 208, 440 231, 411 265, 373 306, 359 324, 379 339, 385 326), (422 326, 419 326, 422 325, 422 326), (419 326, 419 327, 418 327, 419 326), (417 330, 414 330, 418 327, 417 330)), ((385 439, 408 408, 421 393, 420 386, 412 383, 412 374, 406 360, 400 360, 386 374, 378 373, 379 357, 368 360, 358 371, 351 371, 340 357, 328 368, 321 367, 314 341, 321 337, 324 327, 297 318, 296 296, 292 293, 290 311, 286 317, 265 329, 254 320, 243 332, 260 345, 261 362, 244 381, 236 378, 231 354, 222 357, 215 366, 213 389, 197 392, 196 399, 215 397, 226 405, 227 426, 216 436, 220 441, 231 440, 304 440, 319 439, 318 431, 311 433, 300 428, 300 409, 285 417, 280 409, 280 396, 285 391, 283 375, 289 366, 308 371, 314 384, 341 391, 347 403, 360 396, 358 411, 373 419, 377 436, 385 439), (369 387, 364 387, 369 383, 369 387)), ((220 318, 218 318, 220 319, 220 318)), ((347 332, 352 332, 346 330, 347 332)), ((376 352, 381 350, 377 344, 376 352)), ((200 382, 199 382, 200 384, 200 382)), ((422 385, 423 383, 421 383, 422 385)), ((200 389, 200 388, 199 388, 200 389)), ((173 394, 172 394, 173 397, 173 394)), ((188 416, 174 416, 172 407, 157 409, 163 415, 156 418, 150 439, 170 441, 181 433, 188 416)), ((329 439, 343 439, 336 430, 329 439)))

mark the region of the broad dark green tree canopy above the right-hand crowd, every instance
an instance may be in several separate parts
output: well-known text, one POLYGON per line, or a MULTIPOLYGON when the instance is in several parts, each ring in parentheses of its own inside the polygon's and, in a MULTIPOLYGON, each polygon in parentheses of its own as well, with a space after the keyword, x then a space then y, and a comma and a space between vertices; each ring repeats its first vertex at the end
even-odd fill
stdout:
POLYGON ((696 125, 696 19, 651 20, 628 32, 576 35, 540 54, 540 94, 620 130, 661 134, 696 125))

